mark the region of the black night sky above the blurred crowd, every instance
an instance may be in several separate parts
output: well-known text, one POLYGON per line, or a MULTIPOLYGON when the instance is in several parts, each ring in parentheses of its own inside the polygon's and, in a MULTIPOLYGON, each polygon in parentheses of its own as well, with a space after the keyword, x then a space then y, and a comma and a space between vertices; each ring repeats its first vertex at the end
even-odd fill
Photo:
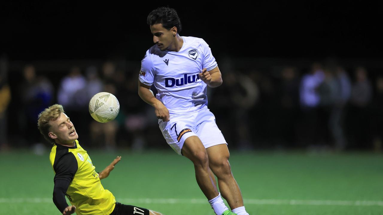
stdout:
MULTIPOLYGON (((146 16, 164 5, 5 3, 1 49, 15 60, 139 60, 152 45, 146 16)), ((382 56, 381 3, 168 5, 178 11, 181 35, 204 38, 217 57, 382 56)))

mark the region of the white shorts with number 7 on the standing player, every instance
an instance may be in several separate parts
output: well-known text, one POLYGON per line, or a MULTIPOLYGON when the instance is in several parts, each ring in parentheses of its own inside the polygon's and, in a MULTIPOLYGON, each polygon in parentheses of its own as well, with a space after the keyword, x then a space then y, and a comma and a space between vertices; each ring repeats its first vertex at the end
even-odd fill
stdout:
POLYGON ((183 143, 191 136, 199 137, 205 148, 228 144, 215 123, 214 114, 208 108, 173 116, 169 122, 159 119, 158 124, 166 142, 179 155, 182 155, 183 143))

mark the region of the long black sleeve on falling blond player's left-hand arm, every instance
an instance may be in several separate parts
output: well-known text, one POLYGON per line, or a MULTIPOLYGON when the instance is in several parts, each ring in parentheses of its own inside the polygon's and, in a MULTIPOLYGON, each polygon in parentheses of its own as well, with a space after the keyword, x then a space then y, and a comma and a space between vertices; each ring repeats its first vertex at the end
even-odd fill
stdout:
POLYGON ((65 194, 77 172, 77 168, 77 160, 72 153, 63 155, 53 166, 56 172, 54 176, 53 203, 61 213, 68 207, 65 194))

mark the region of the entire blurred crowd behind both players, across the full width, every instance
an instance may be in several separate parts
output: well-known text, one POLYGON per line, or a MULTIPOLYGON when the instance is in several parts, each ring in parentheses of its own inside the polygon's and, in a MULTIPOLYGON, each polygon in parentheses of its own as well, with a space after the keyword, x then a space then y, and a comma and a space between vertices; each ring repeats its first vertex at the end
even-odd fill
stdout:
MULTIPOLYGON (((261 69, 238 69, 230 60, 223 62, 223 85, 208 89, 208 107, 231 148, 381 150, 381 73, 363 66, 345 68, 335 60, 261 69)), ((82 145, 106 150, 166 148, 154 109, 137 94, 139 62, 135 63, 134 68, 108 61, 40 72, 34 64, 9 69, 7 58, 1 57, 0 150, 49 148, 37 118, 55 103, 64 106, 82 145), (121 107, 118 117, 105 124, 88 112, 90 98, 101 91, 114 94, 121 107)))

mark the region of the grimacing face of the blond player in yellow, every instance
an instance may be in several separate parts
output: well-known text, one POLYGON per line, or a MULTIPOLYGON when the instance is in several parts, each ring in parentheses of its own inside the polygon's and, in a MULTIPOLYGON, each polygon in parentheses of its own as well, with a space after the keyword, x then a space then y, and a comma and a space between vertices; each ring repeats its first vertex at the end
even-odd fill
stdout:
POLYGON ((51 121, 49 124, 51 124, 49 137, 54 139, 56 143, 72 145, 72 143, 79 138, 73 123, 64 113, 61 113, 55 121, 51 121))

